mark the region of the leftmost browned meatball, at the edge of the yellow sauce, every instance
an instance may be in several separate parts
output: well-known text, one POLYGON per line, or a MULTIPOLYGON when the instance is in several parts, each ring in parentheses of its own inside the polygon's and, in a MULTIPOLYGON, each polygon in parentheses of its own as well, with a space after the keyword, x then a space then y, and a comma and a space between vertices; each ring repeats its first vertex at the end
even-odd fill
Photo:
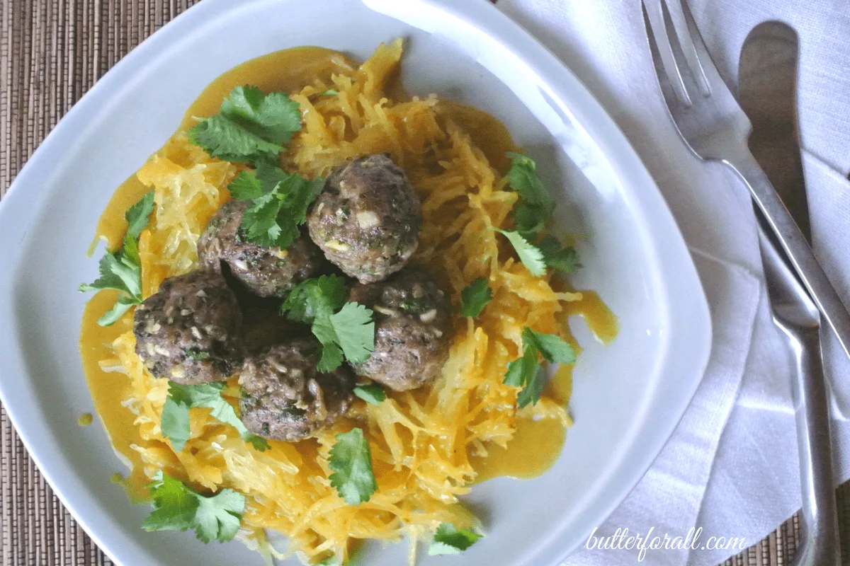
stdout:
POLYGON ((224 277, 171 277, 136 309, 136 353, 157 378, 183 385, 224 381, 241 362, 241 324, 224 277))

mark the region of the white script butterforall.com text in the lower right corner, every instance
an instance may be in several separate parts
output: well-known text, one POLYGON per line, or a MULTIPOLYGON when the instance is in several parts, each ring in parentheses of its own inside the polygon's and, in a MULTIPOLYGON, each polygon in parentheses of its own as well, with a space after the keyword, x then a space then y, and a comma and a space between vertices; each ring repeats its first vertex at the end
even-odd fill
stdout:
POLYGON ((703 541, 702 527, 691 528, 684 536, 671 536, 667 533, 656 534, 650 527, 646 535, 632 533, 626 529, 617 529, 613 535, 597 536, 593 530, 587 538, 588 550, 637 550, 638 562, 643 562, 649 551, 660 550, 738 550, 745 549, 742 536, 710 536, 703 541))

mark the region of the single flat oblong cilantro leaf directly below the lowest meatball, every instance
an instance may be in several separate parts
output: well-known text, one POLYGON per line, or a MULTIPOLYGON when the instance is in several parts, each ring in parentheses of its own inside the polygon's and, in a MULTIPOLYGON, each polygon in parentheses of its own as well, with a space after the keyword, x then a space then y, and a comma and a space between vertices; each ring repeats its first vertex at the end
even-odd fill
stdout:
POLYGON ((334 472, 329 478, 331 487, 337 488, 337 493, 348 505, 368 502, 377 491, 369 441, 363 429, 337 434, 337 444, 331 448, 328 465, 334 472))

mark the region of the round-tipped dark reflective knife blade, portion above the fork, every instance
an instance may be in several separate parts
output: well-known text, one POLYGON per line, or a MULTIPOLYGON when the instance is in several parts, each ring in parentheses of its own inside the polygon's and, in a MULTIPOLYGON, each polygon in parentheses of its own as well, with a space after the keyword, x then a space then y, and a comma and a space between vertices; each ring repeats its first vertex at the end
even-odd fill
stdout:
POLYGON ((751 152, 811 244, 797 131, 798 52, 796 31, 789 25, 778 21, 757 25, 741 50, 738 94, 752 122, 751 152))

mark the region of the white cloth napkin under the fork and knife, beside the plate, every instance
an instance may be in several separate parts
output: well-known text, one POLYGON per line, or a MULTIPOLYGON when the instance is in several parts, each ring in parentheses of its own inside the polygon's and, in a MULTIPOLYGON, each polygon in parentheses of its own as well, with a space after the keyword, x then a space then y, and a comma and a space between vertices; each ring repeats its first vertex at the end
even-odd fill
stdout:
MULTIPOLYGON (((850 11, 823 0, 689 0, 721 74, 765 20, 801 43, 800 120, 813 244, 850 305, 850 11)), ((564 60, 626 132, 672 208, 711 305, 714 346, 694 401, 632 494, 596 532, 742 537, 751 546, 800 506, 790 356, 770 319, 751 200, 719 165, 689 154, 660 98, 638 0, 499 0, 564 60)), ((850 478, 850 361, 824 344, 833 384, 836 475, 850 478)), ((710 566, 729 549, 649 550, 645 563, 710 566)), ((633 565, 637 550, 582 548, 565 564, 633 565)))

